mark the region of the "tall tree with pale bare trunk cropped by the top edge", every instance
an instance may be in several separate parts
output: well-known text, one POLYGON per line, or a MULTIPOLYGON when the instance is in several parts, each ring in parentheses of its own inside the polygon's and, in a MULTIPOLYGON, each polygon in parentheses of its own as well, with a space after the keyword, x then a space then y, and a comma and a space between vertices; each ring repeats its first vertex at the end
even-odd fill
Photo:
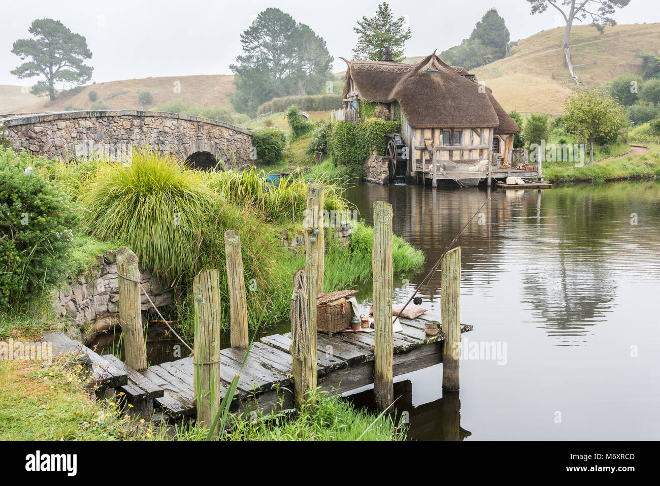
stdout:
POLYGON ((566 20, 566 30, 564 30, 564 44, 562 50, 566 56, 566 65, 571 77, 579 86, 579 78, 571 61, 570 36, 573 22, 590 18, 591 25, 595 26, 601 34, 605 32, 606 25, 616 25, 616 20, 609 17, 616 9, 626 7, 630 0, 527 0, 531 4, 532 15, 543 13, 548 9, 548 5, 554 7, 566 20))

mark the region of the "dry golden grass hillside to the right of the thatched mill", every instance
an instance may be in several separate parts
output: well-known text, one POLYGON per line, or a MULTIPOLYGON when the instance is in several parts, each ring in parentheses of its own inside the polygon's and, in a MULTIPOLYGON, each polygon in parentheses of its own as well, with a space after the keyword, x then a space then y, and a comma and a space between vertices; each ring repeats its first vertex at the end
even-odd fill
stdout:
MULTIPOLYGON (((581 83, 601 86, 625 73, 638 73, 640 51, 660 48, 660 24, 618 25, 605 34, 592 26, 574 26, 572 60, 581 83)), ((520 40, 513 54, 473 69, 492 88, 506 110, 560 113, 576 85, 569 79, 561 45, 564 28, 520 40)))

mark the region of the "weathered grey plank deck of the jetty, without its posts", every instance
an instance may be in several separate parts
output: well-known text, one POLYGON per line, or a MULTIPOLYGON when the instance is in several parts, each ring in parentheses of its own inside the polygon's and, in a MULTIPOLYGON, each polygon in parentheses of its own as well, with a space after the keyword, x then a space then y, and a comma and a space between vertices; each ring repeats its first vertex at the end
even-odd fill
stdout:
MULTIPOLYGON (((428 316, 429 319, 432 316, 428 316)), ((438 318, 433 318, 439 320, 438 318)), ((436 336, 424 332, 426 318, 401 318, 403 331, 394 333, 394 376, 442 363, 442 331, 436 336)), ((461 333, 472 326, 461 324, 461 333)), ((238 389, 232 401, 234 411, 259 407, 265 412, 280 405, 294 407, 290 333, 261 338, 246 349, 220 351, 221 393, 238 374, 238 389)), ((195 415, 193 403, 193 361, 183 358, 132 370, 114 355, 99 356, 83 349, 99 390, 114 388, 136 409, 162 409, 172 419, 195 415), (136 406, 140 405, 140 406, 136 406)), ((347 392, 374 382, 374 334, 337 333, 317 335, 318 385, 329 392, 347 392)), ((438 386, 440 386, 440 374, 438 386)))

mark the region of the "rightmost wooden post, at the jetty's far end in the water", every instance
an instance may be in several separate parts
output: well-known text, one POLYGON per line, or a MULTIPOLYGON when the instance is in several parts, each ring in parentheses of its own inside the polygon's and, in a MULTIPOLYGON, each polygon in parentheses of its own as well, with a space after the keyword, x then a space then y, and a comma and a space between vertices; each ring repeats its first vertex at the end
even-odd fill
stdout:
POLYGON ((440 317, 445 340, 442 345, 442 389, 459 390, 459 352, 461 347, 461 247, 442 258, 440 317))

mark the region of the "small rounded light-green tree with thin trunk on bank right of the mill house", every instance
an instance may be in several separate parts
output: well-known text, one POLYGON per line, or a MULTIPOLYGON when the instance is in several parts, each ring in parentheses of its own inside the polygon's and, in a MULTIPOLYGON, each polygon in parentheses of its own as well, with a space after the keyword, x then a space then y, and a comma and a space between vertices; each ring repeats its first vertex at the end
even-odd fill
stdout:
POLYGON ((628 123, 623 107, 609 94, 594 88, 578 90, 566 98, 564 125, 589 142, 589 166, 593 167, 593 144, 597 137, 609 137, 628 123))

